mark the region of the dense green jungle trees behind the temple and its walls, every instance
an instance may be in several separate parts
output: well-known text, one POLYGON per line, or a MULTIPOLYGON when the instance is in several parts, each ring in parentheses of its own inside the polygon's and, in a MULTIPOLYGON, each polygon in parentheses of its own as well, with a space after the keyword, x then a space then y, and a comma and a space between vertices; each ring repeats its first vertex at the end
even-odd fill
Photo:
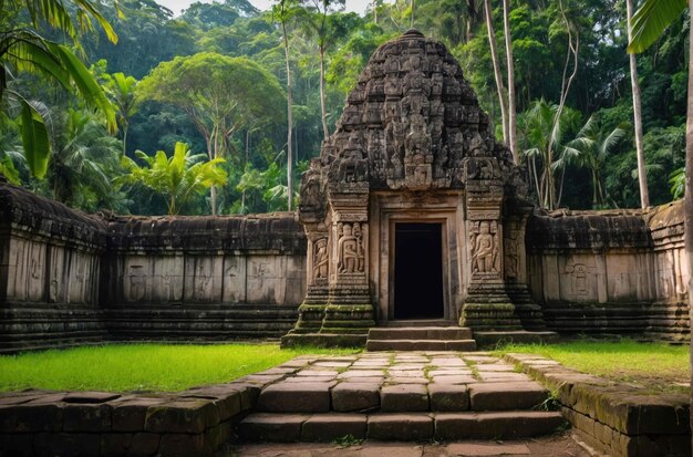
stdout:
MULTIPOLYGON (((37 162, 40 156, 31 154, 29 160, 20 158, 22 150, 37 149, 32 142, 40 146, 41 135, 27 136, 24 144, 30 147, 22 148, 20 127, 39 132, 48 125, 43 116, 51 116, 45 137, 54 138, 50 150, 58 166, 66 153, 55 139, 69 131, 65 113, 82 113, 91 116, 91 132, 99 125, 104 137, 108 124, 117 125, 118 133, 111 134, 117 138, 120 155, 139 166, 146 166, 146 160, 135 155, 136 149, 173 152, 178 142, 188 144, 193 155, 206 153, 206 160, 225 158, 217 166, 228 175, 227 184, 211 196, 193 193, 179 210, 227 214, 289 208, 298 174, 334 129, 344 97, 371 53, 413 23, 444 41, 459 59, 497 137, 508 142, 510 123, 503 112, 513 111, 507 90, 514 82, 517 160, 527 169, 535 198, 548 208, 640 206, 643 193, 630 126, 638 82, 650 204, 662 204, 672 198, 671 175, 684 163, 690 20, 681 10, 669 15, 669 29, 633 60, 637 67, 631 71, 625 52, 628 2, 379 0, 359 15, 343 12, 339 0, 278 0, 272 11, 258 11, 246 0, 217 0, 194 3, 177 18, 153 0, 121 1, 123 17, 105 4, 100 17, 112 29, 100 25, 79 37, 86 63, 79 74, 99 81, 105 94, 99 100, 111 102, 102 103, 102 114, 90 112, 69 92, 45 86, 40 74, 17 72, 31 65, 3 56, 3 74, 13 79, 8 79, 0 117, 0 173, 52 196, 51 185, 29 173, 49 170, 48 160, 37 162), (108 40, 113 33, 120 37, 117 44, 108 40), (285 86, 287 82, 290 85, 285 86), (23 98, 8 96, 8 91, 23 98), (106 123, 103 113, 108 110, 106 123)), ((633 9, 648 4, 632 2, 633 9)), ((70 33, 63 37, 27 20, 31 14, 22 17, 25 3, 4 4, 14 8, 12 15, 1 19, 9 24, 7 30, 42 33, 51 40, 41 44, 48 51, 74 43, 70 33)), ((79 10, 83 3, 76 4, 79 10)), ((37 70, 35 62, 33 66, 37 70)), ((75 84, 58 80, 59 85, 62 82, 69 87, 75 84)), ((116 178, 126 172, 113 165, 112 153, 82 158, 103 165, 114 198, 100 197, 96 180, 84 176, 74 179, 91 184, 73 188, 76 197, 69 199, 71 205, 167 211, 161 193, 147 194, 142 185, 117 189, 123 179, 116 178)))

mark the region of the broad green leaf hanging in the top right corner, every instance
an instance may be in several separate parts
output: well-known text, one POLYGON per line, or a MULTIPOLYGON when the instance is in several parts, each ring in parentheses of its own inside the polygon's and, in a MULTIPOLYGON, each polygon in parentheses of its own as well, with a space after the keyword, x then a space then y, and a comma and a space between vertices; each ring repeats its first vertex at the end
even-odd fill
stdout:
POLYGON ((686 7, 686 0, 645 0, 633 14, 628 52, 640 53, 650 48, 686 7))

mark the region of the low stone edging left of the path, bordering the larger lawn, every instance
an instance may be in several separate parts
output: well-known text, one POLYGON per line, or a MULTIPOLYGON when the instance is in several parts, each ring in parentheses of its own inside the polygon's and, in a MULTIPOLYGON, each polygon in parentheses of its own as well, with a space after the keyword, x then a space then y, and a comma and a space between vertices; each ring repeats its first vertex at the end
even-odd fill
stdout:
POLYGON ((227 384, 178 393, 23 391, 0 395, 0 456, 209 456, 235 440, 260 391, 299 356, 227 384))

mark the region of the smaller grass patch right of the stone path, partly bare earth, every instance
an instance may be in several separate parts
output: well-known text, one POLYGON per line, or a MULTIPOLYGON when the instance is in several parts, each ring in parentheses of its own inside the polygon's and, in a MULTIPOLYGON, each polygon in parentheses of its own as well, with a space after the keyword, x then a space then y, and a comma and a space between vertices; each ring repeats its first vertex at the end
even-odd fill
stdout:
POLYGON ((497 353, 538 354, 582 373, 632 384, 653 393, 689 392, 687 345, 621 341, 572 341, 557 344, 508 344, 497 353))

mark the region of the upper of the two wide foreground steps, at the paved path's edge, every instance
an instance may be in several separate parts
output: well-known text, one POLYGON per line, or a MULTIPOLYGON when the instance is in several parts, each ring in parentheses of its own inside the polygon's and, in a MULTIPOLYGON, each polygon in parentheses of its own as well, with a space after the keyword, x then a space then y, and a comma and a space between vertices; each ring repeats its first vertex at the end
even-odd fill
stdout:
MULTIPOLYGON (((480 370, 480 368, 479 368, 480 370)), ((265 413, 359 413, 359 412, 489 412, 538 408, 548 391, 534 381, 477 382, 469 375, 451 376, 465 384, 434 382, 383 385, 382 370, 345 377, 338 384, 329 371, 298 376, 262 390, 257 411, 265 413), (380 376, 380 377, 377 377, 380 376), (306 377, 306 381, 300 380, 306 377), (319 381, 324 378, 325 381, 319 381)), ((423 380, 426 382, 426 380, 423 380)))

